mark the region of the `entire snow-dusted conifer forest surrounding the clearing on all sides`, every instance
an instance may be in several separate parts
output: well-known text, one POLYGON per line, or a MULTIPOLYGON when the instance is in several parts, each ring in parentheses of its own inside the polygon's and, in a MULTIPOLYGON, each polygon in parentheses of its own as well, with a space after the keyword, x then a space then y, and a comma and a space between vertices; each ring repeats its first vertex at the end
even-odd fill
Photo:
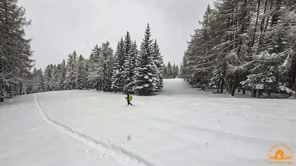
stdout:
POLYGON ((163 78, 233 96, 236 89, 252 97, 292 95, 296 84, 296 1, 215 0, 201 28, 195 29, 180 66, 163 64, 149 24, 140 47, 129 32, 115 53, 107 41, 89 58, 70 53, 60 64, 32 68, 30 25, 17 1, 0 1, 0 102, 15 95, 67 89, 96 89, 150 95, 163 88, 163 78))

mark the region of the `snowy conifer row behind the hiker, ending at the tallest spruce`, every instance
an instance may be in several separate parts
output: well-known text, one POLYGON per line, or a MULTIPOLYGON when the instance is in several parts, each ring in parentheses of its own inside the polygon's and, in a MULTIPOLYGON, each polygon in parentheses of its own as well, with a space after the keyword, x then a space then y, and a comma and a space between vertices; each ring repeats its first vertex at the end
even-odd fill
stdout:
POLYGON ((118 41, 114 54, 107 41, 95 45, 89 58, 74 51, 60 64, 50 64, 44 71, 33 69, 23 94, 70 89, 96 89, 104 92, 130 92, 150 95, 163 87, 163 59, 157 40, 150 39, 147 25, 138 50, 127 32, 118 41))

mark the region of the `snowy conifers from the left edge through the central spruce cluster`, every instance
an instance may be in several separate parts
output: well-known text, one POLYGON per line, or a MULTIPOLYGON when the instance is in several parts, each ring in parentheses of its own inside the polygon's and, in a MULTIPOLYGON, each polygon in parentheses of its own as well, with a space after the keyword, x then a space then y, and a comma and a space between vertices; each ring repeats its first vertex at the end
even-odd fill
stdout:
POLYGON ((157 40, 151 39, 149 24, 140 48, 129 32, 118 41, 116 51, 107 41, 91 49, 89 58, 76 51, 60 64, 34 68, 30 25, 25 8, 17 0, 0 1, 0 102, 15 95, 68 89, 96 89, 150 95, 163 88, 163 58, 157 40))

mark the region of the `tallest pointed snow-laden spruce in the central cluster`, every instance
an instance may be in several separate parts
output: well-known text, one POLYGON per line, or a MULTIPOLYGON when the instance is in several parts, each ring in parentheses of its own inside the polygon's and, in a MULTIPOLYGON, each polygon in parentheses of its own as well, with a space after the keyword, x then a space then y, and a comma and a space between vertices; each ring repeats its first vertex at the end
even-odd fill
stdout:
POLYGON ((140 95, 149 95, 158 91, 157 80, 159 71, 154 63, 152 53, 152 40, 150 40, 150 27, 147 25, 144 39, 140 46, 139 58, 136 64, 134 91, 140 95))

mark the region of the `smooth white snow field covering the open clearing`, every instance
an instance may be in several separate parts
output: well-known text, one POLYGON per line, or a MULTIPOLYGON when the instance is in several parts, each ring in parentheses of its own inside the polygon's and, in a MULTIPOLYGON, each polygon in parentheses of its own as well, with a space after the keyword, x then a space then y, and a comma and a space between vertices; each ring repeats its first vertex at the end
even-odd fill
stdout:
MULTIPOLYGON (((155 96, 44 92, 0 104, 0 165, 268 165, 296 151, 296 102, 211 94, 165 79, 155 96)), ((247 96, 248 97, 248 96, 247 96)))

